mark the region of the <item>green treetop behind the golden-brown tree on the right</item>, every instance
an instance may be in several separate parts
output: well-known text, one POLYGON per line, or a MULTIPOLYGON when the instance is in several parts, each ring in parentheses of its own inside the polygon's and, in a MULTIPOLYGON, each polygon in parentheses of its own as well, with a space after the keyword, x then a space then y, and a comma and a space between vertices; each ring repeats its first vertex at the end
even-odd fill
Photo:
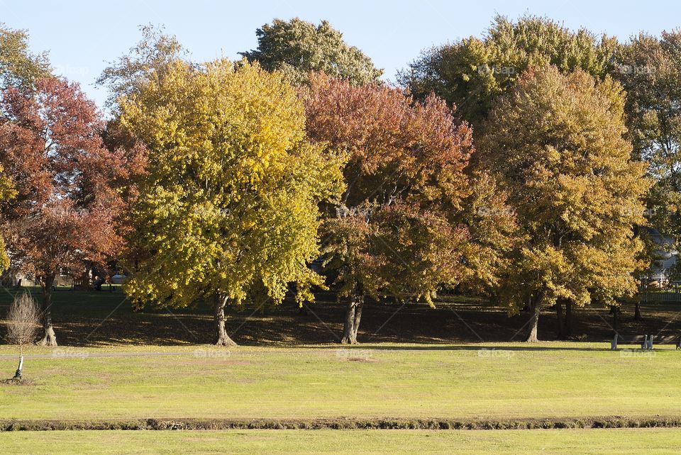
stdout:
POLYGON ((549 18, 497 16, 482 39, 470 37, 424 51, 399 81, 419 99, 435 93, 478 127, 494 99, 528 67, 553 64, 560 72, 582 69, 602 79, 614 67, 615 38, 572 31, 549 18))

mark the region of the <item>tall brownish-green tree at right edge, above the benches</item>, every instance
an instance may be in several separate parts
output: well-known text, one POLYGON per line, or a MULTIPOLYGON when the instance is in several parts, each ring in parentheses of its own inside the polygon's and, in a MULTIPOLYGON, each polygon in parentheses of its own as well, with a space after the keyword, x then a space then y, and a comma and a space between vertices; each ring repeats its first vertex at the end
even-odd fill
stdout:
MULTIPOLYGON (((633 157, 648 164, 655 184, 648 193, 653 228, 681 238, 681 33, 641 33, 622 45, 613 77, 626 90, 633 157)), ((673 248, 676 245, 668 245, 673 248)), ((661 249, 656 245, 655 249, 661 249)), ((680 275, 678 268, 672 278, 680 275)))

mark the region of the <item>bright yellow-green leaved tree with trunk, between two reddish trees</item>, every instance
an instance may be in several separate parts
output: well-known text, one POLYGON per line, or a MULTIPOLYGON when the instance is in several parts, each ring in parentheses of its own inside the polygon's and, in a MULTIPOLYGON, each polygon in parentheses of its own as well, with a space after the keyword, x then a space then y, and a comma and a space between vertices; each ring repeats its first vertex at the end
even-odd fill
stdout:
POLYGON ((311 300, 318 205, 342 190, 341 158, 306 141, 303 104, 282 74, 176 60, 119 106, 121 128, 148 150, 131 215, 135 303, 211 299, 216 342, 230 345, 228 303, 263 288, 279 303, 292 282, 311 300))

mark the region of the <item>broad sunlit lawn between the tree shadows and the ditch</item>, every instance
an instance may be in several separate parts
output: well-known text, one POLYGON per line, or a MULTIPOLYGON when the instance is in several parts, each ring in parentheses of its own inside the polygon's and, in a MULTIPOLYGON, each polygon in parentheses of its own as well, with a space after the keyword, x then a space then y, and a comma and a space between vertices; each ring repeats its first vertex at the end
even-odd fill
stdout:
MULTIPOLYGON (((47 357, 26 359, 30 385, 0 383, 0 419, 681 417, 680 352, 606 348, 32 347, 47 357)), ((15 368, 1 357, 6 378, 15 368)))

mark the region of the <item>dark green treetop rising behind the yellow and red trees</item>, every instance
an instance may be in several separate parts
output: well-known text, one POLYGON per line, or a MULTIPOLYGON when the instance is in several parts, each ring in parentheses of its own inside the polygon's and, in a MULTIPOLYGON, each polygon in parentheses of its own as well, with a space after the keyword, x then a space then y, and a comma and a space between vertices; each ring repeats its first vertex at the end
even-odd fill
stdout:
POLYGON ((294 84, 306 82, 311 71, 348 79, 351 84, 378 82, 383 74, 361 50, 345 43, 343 34, 328 21, 315 26, 299 18, 275 19, 255 34, 258 48, 241 55, 268 71, 284 72, 294 84))

